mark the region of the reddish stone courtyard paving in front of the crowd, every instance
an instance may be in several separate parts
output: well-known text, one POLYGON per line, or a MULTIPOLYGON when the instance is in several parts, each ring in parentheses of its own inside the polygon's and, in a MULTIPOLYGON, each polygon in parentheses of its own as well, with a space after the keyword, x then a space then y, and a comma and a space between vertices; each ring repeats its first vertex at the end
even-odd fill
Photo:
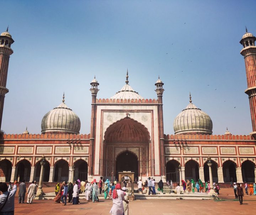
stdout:
MULTIPOLYGON (((51 192, 54 188, 43 188, 44 192, 51 192)), ((256 207, 256 196, 245 195, 244 204, 234 198, 232 188, 220 190, 222 200, 179 200, 179 199, 147 199, 135 200, 129 203, 130 215, 199 215, 199 214, 253 214, 256 207)), ((27 197, 25 197, 26 200, 27 197)), ((112 207, 112 200, 100 200, 98 203, 80 201, 79 205, 67 203, 66 206, 55 203, 53 200, 34 200, 32 204, 18 204, 15 197, 15 214, 33 215, 107 215, 112 207)))

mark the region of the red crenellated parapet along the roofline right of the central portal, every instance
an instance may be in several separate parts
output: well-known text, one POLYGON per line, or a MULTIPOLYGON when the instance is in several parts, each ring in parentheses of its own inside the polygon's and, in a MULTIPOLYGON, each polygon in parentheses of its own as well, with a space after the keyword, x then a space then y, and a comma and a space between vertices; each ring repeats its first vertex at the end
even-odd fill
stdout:
POLYGON ((165 140, 254 140, 252 135, 164 134, 165 140))

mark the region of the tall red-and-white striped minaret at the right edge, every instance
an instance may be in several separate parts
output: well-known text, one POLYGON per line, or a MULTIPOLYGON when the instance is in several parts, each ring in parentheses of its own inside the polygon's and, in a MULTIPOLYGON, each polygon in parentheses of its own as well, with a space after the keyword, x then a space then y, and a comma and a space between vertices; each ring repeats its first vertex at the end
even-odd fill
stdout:
POLYGON ((242 36, 240 43, 243 46, 240 54, 245 59, 245 70, 247 78, 247 89, 245 93, 249 96, 251 120, 252 120, 252 133, 256 138, 256 37, 247 32, 242 36))

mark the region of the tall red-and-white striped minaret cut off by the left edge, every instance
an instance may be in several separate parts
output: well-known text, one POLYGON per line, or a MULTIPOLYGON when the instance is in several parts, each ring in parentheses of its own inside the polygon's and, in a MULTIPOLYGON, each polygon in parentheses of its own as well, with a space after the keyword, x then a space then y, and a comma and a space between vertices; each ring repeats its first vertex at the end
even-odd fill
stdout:
POLYGON ((0 130, 2 125, 2 112, 4 109, 4 98, 5 94, 9 92, 6 88, 7 81, 7 72, 9 66, 9 58, 13 53, 11 49, 11 44, 14 43, 14 40, 11 37, 11 34, 8 32, 1 33, 0 35, 0 130))

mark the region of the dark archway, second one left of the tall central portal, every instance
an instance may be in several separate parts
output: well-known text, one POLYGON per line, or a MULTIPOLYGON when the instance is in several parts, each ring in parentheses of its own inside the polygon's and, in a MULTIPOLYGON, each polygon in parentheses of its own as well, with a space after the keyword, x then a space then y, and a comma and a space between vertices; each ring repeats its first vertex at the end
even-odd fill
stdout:
POLYGON ((68 162, 61 159, 55 164, 54 169, 54 182, 68 181, 69 177, 69 165, 68 162))

